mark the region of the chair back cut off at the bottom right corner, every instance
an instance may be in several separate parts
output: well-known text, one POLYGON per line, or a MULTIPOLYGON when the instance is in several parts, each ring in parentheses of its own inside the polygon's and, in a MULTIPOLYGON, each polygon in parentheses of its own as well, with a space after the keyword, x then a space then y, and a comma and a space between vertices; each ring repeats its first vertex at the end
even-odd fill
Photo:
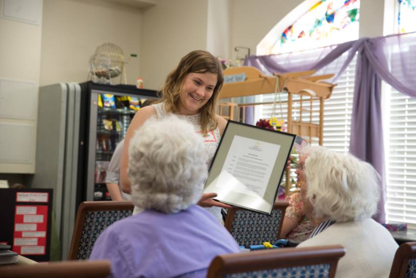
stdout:
POLYGON ((416 278, 416 242, 399 246, 394 255, 390 278, 416 278))

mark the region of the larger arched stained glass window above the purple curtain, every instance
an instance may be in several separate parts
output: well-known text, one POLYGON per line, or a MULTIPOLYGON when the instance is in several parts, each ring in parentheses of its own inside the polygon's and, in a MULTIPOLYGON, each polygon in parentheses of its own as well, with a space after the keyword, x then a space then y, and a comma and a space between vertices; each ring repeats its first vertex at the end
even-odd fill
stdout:
POLYGON ((360 0, 318 0, 287 27, 270 53, 292 52, 358 39, 360 0))

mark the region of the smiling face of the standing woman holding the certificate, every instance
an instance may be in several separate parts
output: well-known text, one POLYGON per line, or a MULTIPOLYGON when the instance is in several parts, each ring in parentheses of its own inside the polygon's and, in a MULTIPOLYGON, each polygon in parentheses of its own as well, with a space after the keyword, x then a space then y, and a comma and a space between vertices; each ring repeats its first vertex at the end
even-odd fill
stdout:
POLYGON ((181 115, 195 115, 208 102, 217 84, 217 74, 190 72, 185 76, 179 94, 178 110, 181 115))

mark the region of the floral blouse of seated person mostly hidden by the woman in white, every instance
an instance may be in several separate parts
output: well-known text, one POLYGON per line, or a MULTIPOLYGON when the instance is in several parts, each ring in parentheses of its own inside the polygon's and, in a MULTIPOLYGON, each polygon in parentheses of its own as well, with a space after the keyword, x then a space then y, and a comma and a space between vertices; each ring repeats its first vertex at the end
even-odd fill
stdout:
POLYGON ((286 209, 285 217, 288 217, 294 221, 297 221, 298 226, 287 234, 287 239, 296 242, 302 242, 308 239, 309 235, 314 230, 314 227, 309 218, 304 215, 302 207, 302 199, 300 192, 291 194, 286 198, 289 202, 289 207, 286 209))

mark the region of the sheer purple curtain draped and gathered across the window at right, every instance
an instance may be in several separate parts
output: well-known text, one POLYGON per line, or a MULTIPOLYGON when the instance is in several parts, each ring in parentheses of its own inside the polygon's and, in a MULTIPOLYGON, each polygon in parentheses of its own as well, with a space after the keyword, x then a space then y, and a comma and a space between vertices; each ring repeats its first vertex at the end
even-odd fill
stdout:
POLYGON ((401 93, 416 97, 416 77, 410 74, 416 64, 416 33, 378 38, 362 38, 338 46, 327 46, 293 53, 251 56, 245 65, 272 72, 318 70, 333 73, 334 82, 358 53, 349 151, 371 163, 380 174, 382 192, 378 213, 385 221, 384 144, 381 116, 381 80, 401 93))

